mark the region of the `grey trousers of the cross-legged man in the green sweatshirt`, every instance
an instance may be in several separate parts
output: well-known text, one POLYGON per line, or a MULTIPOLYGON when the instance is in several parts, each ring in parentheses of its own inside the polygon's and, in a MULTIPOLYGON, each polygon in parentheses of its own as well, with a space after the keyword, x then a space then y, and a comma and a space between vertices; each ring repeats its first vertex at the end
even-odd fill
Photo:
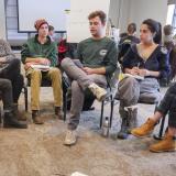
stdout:
POLYGON ((100 87, 107 87, 107 79, 105 75, 87 75, 79 68, 73 59, 66 57, 62 61, 62 68, 67 74, 72 81, 72 106, 70 117, 68 122, 69 130, 76 130, 79 124, 80 113, 84 105, 85 90, 92 82, 100 87))

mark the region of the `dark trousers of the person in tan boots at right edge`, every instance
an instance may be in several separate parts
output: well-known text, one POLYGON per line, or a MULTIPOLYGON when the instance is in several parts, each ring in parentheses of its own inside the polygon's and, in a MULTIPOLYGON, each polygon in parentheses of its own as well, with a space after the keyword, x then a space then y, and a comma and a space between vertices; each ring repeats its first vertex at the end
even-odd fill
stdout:
POLYGON ((176 82, 167 89, 156 110, 164 116, 168 112, 168 127, 176 128, 176 82))

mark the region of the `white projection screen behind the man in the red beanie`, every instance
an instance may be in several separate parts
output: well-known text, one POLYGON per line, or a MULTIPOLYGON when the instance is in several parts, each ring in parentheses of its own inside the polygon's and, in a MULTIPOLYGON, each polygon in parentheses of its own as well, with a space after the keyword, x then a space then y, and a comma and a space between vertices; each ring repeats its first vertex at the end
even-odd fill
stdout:
POLYGON ((70 0, 18 0, 18 7, 19 31, 34 32, 37 19, 46 19, 55 31, 66 31, 65 10, 70 9, 70 0))

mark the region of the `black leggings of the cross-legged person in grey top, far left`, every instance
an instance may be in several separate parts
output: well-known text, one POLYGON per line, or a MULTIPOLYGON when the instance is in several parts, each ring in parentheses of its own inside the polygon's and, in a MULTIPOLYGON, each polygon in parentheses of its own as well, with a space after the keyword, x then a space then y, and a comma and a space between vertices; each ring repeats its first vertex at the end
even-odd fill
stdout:
POLYGON ((6 78, 11 80, 12 84, 12 95, 13 95, 13 102, 18 103, 21 90, 24 85, 24 78, 20 74, 20 67, 21 63, 20 59, 14 58, 11 61, 1 73, 0 73, 0 78, 6 78))

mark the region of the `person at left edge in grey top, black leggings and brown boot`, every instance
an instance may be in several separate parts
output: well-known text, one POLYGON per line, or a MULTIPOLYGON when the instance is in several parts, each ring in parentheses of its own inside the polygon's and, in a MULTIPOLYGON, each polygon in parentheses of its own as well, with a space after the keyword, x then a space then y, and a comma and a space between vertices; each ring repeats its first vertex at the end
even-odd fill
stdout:
POLYGON ((20 74, 21 62, 13 54, 10 44, 0 40, 0 78, 9 79, 12 84, 13 109, 19 120, 26 120, 24 113, 19 111, 18 101, 22 91, 24 79, 20 74))

